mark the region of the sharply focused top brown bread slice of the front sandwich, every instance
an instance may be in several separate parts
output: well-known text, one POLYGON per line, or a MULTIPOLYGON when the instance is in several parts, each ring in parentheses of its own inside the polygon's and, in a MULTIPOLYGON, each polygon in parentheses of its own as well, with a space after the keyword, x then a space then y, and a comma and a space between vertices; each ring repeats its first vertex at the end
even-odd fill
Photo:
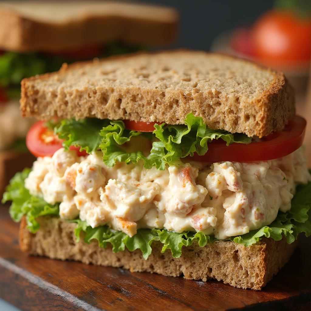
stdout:
POLYGON ((263 137, 295 114, 283 73, 214 53, 175 50, 66 64, 24 79, 21 112, 39 119, 109 118, 183 124, 263 137))

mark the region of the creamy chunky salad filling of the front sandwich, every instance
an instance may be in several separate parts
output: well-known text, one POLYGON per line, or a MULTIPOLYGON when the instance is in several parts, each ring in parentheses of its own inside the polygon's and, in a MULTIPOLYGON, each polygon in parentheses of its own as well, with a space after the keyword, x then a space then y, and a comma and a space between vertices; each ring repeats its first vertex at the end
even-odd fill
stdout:
POLYGON ((142 163, 107 167, 100 152, 78 157, 58 150, 38 158, 26 179, 30 193, 60 203, 60 216, 92 227, 108 224, 132 236, 138 228, 202 231, 218 239, 269 225, 288 211, 298 183, 311 177, 302 148, 281 159, 202 164, 165 170, 142 163))

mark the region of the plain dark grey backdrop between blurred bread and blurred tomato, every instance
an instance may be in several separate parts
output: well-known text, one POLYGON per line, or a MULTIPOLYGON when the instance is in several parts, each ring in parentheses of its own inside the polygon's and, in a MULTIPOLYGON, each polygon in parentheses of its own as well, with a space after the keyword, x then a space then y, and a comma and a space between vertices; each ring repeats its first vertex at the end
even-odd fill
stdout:
POLYGON ((181 15, 179 38, 174 47, 209 50, 224 30, 251 25, 274 6, 273 0, 146 0, 175 7, 181 15))

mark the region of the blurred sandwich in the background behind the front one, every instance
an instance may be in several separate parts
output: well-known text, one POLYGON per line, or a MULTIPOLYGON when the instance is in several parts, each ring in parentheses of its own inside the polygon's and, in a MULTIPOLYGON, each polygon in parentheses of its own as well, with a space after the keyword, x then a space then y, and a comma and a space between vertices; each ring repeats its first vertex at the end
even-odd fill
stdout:
POLYGON ((16 171, 31 166, 19 111, 25 77, 63 63, 164 46, 176 37, 174 9, 130 2, 0 2, 0 193, 16 171), (12 163, 15 163, 12 165, 12 163))

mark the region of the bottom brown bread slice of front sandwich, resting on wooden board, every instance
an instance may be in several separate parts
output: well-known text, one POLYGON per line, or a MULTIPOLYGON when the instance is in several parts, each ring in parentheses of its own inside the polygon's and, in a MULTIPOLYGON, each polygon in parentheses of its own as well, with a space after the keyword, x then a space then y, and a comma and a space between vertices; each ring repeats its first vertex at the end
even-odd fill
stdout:
POLYGON ((31 255, 53 259, 76 260, 86 264, 123 267, 131 272, 151 272, 165 276, 183 276, 186 279, 216 279, 239 288, 261 290, 289 260, 296 243, 263 239, 245 247, 231 241, 216 241, 199 247, 197 243, 183 247, 180 258, 172 258, 170 250, 161 253, 160 242, 152 243, 147 260, 140 250, 114 253, 111 248, 100 248, 97 241, 91 244, 76 242, 75 224, 58 217, 40 217, 41 227, 32 234, 26 228, 25 218, 20 226, 20 247, 31 255))

